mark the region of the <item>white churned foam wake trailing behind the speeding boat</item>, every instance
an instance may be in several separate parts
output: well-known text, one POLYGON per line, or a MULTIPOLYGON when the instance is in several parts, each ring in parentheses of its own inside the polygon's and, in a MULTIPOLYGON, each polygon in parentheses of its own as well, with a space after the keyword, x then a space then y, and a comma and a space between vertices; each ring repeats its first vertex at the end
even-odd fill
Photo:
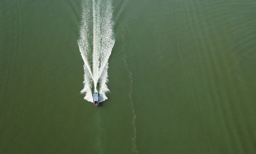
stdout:
POLYGON ((115 44, 112 4, 108 0, 84 1, 80 37, 77 40, 84 61, 84 99, 93 101, 92 93, 99 91, 99 100, 108 99, 109 57, 115 44), (94 89, 92 89, 94 88, 94 89))

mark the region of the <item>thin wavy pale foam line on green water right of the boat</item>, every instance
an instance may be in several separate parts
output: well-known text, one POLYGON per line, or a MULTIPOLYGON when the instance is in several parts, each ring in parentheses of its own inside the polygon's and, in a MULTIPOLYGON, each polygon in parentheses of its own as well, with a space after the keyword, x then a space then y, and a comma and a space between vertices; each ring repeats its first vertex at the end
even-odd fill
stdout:
POLYGON ((127 56, 126 56, 126 53, 125 53, 124 36, 125 36, 125 33, 122 35, 122 40, 123 40, 123 63, 124 63, 125 69, 129 73, 129 79, 130 79, 129 98, 130 98, 130 101, 131 101, 131 109, 132 109, 132 129, 133 129, 133 135, 132 135, 132 149, 131 150, 133 152, 135 152, 135 153, 139 153, 139 151, 137 150, 137 144, 136 144, 136 138, 137 138, 136 114, 135 114, 134 102, 133 102, 133 98, 132 98, 132 94, 133 94, 133 77, 132 77, 132 72, 129 69, 127 61, 126 61, 127 56))

